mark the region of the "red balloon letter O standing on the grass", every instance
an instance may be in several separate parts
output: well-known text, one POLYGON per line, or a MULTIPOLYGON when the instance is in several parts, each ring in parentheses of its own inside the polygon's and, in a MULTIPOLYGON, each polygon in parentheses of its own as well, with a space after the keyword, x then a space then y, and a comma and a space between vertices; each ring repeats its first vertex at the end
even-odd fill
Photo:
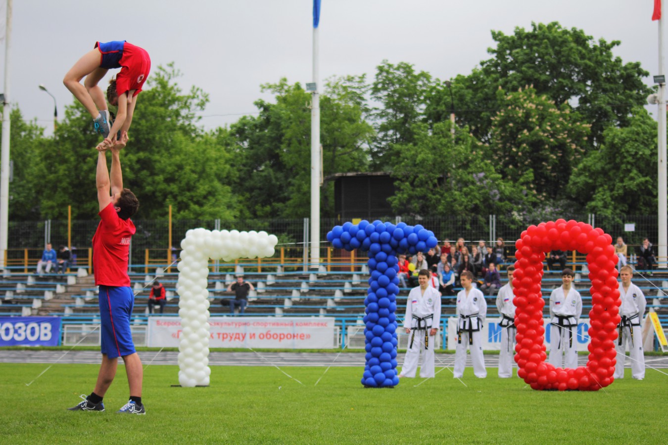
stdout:
POLYGON ((617 255, 612 238, 600 228, 583 222, 557 219, 530 226, 515 242, 513 300, 516 306, 518 376, 534 390, 596 391, 614 380, 615 339, 619 324, 617 255), (554 368, 545 362, 545 329, 540 292, 544 252, 577 250, 587 255, 591 280, 592 310, 589 312, 589 361, 576 369, 554 368))

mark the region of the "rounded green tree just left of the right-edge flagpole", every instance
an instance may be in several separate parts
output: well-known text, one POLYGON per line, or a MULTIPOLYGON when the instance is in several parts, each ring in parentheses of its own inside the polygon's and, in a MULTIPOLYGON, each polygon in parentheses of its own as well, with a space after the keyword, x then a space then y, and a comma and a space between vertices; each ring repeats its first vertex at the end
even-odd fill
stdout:
POLYGON ((657 123, 636 107, 629 126, 610 127, 601 149, 574 169, 568 189, 574 201, 601 215, 647 215, 657 208, 657 123))

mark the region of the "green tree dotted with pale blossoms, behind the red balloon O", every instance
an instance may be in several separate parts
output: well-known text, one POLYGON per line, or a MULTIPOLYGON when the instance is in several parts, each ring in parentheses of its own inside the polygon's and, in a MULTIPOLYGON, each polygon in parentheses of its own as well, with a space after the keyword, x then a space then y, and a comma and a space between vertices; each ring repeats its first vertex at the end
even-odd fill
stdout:
POLYGON ((589 125, 580 123, 570 106, 557 107, 533 87, 496 93, 500 111, 492 117, 490 148, 496 171, 510 181, 527 173, 530 191, 540 197, 561 197, 573 165, 585 152, 589 125))

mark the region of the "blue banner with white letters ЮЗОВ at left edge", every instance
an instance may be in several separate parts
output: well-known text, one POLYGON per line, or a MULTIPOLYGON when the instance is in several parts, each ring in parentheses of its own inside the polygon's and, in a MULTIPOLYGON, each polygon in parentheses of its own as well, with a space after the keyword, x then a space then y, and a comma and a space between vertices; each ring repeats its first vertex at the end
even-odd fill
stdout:
POLYGON ((0 317, 0 346, 59 344, 59 317, 0 317))

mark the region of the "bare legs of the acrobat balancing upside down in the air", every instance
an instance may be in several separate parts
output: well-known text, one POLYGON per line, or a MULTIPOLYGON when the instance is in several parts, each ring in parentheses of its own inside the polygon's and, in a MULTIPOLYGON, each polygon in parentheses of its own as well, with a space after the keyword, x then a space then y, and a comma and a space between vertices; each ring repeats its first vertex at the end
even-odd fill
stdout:
POLYGON ((93 119, 98 117, 98 110, 107 109, 104 92, 98 87, 98 82, 107 71, 107 69, 100 68, 100 51, 93 49, 84 54, 67 71, 63 79, 65 87, 81 102, 81 105, 86 107, 93 119), (80 81, 83 77, 86 77, 86 80, 81 85, 80 81))

